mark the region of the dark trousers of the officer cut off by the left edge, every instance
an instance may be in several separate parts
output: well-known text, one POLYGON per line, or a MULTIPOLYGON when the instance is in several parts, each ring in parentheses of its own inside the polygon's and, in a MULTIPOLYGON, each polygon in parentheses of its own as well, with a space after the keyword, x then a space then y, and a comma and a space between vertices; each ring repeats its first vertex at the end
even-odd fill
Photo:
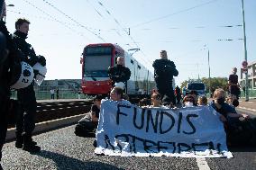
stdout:
POLYGON ((9 98, 0 96, 0 161, 2 158, 2 148, 5 143, 7 131, 7 115, 8 115, 9 98))

